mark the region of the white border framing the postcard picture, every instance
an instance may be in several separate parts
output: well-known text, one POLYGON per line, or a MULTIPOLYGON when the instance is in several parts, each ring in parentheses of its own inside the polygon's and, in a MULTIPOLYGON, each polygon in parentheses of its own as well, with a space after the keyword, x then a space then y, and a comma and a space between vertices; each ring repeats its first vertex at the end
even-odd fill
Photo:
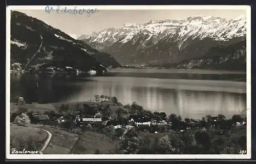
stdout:
MULTIPOLYGON (((45 10, 46 6, 8 6, 6 9, 6 158, 7 159, 250 159, 251 158, 251 8, 250 6, 76 6, 77 9, 99 10, 246 10, 246 98, 247 98, 247 154, 10 154, 10 11, 45 10)), ((57 6, 50 6, 56 8, 57 6)), ((75 6, 61 6, 73 9, 75 6)))

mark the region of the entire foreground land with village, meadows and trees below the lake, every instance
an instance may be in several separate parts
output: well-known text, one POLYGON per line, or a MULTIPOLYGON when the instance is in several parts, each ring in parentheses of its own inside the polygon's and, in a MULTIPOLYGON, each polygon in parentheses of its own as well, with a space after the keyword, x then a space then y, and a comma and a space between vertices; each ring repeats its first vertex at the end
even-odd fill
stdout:
POLYGON ((123 105, 117 97, 106 95, 95 95, 85 102, 48 104, 25 102, 18 97, 17 103, 11 103, 10 122, 11 146, 16 149, 25 142, 17 140, 16 135, 34 141, 27 141, 25 146, 32 144, 34 150, 46 140, 47 134, 42 135, 41 130, 50 132, 46 154, 197 154, 206 150, 232 154, 246 147, 243 114, 182 119, 175 114, 144 110, 136 102, 123 105))

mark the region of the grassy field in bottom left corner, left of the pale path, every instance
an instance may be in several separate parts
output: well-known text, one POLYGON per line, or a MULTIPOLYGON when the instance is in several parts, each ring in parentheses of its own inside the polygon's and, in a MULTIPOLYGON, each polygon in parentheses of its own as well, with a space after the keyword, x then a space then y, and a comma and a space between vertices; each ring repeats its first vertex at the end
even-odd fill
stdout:
POLYGON ((34 151, 40 150, 47 137, 48 134, 44 130, 10 124, 10 150, 12 148, 28 150, 29 145, 34 151))

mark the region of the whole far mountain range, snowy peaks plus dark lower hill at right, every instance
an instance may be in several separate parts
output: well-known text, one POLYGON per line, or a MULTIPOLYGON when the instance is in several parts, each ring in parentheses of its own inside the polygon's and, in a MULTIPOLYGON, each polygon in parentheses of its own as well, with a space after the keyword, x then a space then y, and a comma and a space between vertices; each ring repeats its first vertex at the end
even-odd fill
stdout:
POLYGON ((127 23, 78 39, 111 54, 121 65, 246 69, 246 18, 243 16, 230 20, 196 16, 151 20, 139 25, 127 23), (239 65, 229 68, 230 63, 239 65))

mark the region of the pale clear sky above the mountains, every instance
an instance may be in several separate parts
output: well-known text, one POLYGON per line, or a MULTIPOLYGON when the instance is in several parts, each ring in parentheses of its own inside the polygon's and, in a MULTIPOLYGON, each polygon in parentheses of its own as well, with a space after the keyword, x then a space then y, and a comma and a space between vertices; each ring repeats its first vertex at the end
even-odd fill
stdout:
POLYGON ((234 19, 246 15, 246 10, 98 10, 88 14, 69 14, 46 10, 16 10, 44 21, 73 38, 80 35, 91 35, 106 28, 119 28, 125 23, 143 24, 150 20, 185 19, 189 16, 216 16, 234 19))

